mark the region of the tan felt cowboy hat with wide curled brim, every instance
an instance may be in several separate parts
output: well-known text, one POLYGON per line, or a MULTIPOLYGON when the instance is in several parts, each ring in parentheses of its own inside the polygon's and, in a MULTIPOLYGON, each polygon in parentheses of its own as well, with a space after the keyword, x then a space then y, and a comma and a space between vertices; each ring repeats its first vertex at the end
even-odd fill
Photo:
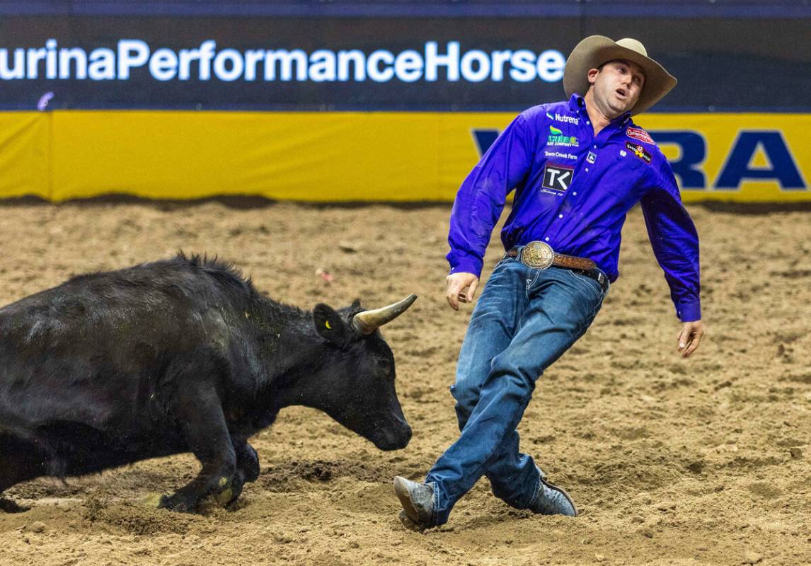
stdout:
POLYGON ((665 71, 658 62, 649 58, 645 45, 639 41, 630 37, 613 41, 606 36, 588 36, 572 49, 569 59, 566 60, 563 75, 566 96, 572 96, 574 92, 586 94, 590 86, 589 70, 599 68, 603 63, 615 59, 635 62, 645 71, 645 84, 637 104, 631 109, 631 114, 645 112, 676 86, 676 78, 665 71))

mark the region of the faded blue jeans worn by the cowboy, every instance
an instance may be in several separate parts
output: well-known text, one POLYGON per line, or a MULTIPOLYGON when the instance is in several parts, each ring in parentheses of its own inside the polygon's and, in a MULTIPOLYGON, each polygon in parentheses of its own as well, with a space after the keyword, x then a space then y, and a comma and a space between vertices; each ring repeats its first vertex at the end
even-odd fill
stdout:
POLYGON ((505 258, 478 299, 451 393, 461 435, 425 478, 434 487, 433 525, 487 475, 493 493, 527 508, 539 487, 516 427, 535 380, 581 337, 603 304, 597 281, 564 268, 528 268, 505 258))

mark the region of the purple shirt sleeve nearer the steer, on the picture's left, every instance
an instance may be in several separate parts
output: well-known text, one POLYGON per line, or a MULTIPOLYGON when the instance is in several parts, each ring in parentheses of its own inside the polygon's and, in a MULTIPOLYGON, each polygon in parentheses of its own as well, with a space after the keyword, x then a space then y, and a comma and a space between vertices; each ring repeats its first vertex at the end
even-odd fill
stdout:
POLYGON ((481 275, 484 251, 504 201, 524 182, 534 152, 524 114, 519 114, 487 149, 462 182, 450 218, 448 263, 451 273, 481 275))

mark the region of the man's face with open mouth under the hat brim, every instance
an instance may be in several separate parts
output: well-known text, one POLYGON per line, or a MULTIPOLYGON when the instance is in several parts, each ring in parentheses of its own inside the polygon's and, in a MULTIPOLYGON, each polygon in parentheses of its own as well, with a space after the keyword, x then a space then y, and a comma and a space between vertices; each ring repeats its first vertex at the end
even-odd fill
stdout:
POLYGON ((637 104, 645 72, 630 61, 610 61, 601 69, 589 71, 589 82, 594 91, 594 103, 607 118, 616 118, 637 104))

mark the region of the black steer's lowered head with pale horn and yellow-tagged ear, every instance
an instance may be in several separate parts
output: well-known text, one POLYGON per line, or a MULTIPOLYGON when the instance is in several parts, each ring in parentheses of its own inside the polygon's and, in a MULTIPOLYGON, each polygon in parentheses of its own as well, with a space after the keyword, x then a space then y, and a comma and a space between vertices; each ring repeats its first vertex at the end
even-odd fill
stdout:
POLYGON ((411 427, 397 399, 394 356, 378 331, 417 299, 410 295, 388 307, 363 310, 359 301, 334 310, 313 310, 315 331, 326 342, 320 370, 318 409, 381 450, 405 448, 411 427))

